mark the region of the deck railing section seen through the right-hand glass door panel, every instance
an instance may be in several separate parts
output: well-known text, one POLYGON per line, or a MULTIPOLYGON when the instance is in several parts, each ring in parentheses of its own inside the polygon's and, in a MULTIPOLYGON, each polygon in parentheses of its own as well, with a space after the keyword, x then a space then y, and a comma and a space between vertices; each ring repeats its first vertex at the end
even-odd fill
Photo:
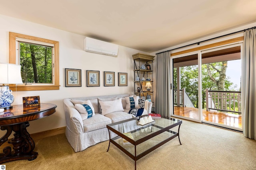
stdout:
POLYGON ((241 114, 240 91, 216 91, 206 88, 206 110, 228 111, 241 114))

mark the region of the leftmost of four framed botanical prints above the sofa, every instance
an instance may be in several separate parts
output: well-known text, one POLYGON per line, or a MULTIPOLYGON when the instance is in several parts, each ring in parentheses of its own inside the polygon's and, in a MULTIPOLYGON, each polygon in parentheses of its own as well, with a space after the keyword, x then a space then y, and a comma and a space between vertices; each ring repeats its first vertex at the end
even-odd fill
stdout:
POLYGON ((65 87, 81 86, 81 69, 65 68, 65 87))

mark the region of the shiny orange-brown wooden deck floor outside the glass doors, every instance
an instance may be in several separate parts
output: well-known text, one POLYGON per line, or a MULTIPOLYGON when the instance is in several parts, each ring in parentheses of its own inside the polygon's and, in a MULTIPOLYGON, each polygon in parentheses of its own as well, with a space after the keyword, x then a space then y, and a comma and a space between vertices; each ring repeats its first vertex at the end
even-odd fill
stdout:
MULTIPOLYGON (((223 113, 223 112, 218 112, 214 110, 210 110, 210 111, 203 110, 202 113, 203 113, 202 120, 242 129, 241 115, 223 113)), ((192 107, 174 106, 174 115, 180 115, 184 117, 198 119, 198 109, 192 108, 192 107)))

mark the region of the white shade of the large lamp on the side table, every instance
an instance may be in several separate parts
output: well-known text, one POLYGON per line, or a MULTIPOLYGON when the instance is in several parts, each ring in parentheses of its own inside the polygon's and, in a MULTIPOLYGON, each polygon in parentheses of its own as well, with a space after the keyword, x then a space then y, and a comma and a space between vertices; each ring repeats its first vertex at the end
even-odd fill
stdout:
POLYGON ((0 84, 23 84, 20 71, 20 65, 0 63, 0 84))

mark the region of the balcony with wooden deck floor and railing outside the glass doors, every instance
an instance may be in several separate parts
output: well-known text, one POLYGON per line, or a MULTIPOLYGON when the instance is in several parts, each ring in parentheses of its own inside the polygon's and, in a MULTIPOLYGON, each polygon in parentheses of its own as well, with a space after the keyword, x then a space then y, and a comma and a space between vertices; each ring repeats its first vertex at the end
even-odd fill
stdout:
MULTIPOLYGON (((206 89, 206 109, 202 120, 242 129, 241 92, 206 89)), ((185 89, 174 90, 174 115, 198 119, 198 108, 191 107, 185 89)))

